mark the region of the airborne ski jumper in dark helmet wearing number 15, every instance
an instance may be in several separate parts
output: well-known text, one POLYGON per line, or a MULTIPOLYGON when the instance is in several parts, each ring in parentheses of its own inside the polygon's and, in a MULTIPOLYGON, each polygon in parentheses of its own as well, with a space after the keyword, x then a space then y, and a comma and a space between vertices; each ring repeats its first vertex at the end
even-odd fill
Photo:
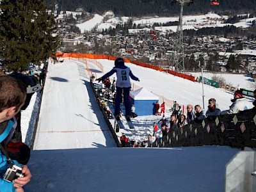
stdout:
POLYGON ((124 106, 125 106, 125 117, 127 120, 131 120, 131 103, 129 100, 129 93, 131 90, 131 77, 134 81, 140 81, 138 77, 132 74, 129 67, 124 65, 122 58, 115 60, 115 67, 111 71, 106 73, 104 76, 96 79, 97 81, 104 81, 104 79, 112 76, 116 73, 116 98, 115 98, 115 117, 117 120, 120 119, 120 102, 122 100, 122 92, 124 91, 124 106))

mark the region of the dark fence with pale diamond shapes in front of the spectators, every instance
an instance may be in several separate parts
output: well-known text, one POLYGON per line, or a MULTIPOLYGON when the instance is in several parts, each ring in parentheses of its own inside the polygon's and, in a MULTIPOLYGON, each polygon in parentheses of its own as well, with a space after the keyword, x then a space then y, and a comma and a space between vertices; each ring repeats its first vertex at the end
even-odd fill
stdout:
POLYGON ((256 112, 252 109, 232 115, 206 118, 168 132, 152 147, 228 145, 256 147, 256 112))

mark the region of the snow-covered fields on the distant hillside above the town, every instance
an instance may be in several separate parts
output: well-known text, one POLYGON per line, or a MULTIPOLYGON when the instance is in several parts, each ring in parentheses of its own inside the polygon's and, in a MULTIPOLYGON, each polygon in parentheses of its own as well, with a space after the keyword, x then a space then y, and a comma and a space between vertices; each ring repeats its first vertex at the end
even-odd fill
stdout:
MULTIPOLYGON (((79 13, 78 13, 79 14, 79 13)), ((73 13, 73 15, 76 15, 73 13)), ((62 15, 58 15, 58 17, 63 17, 62 15)), ((167 22, 175 22, 179 21, 179 16, 177 17, 152 17, 147 19, 133 19, 133 23, 138 25, 148 25, 153 26, 154 23, 164 24, 167 22)), ((218 15, 216 13, 207 13, 203 15, 184 15, 182 18, 183 21, 183 29, 195 29, 198 30, 200 28, 222 28, 223 26, 235 26, 236 28, 250 28, 252 26, 252 21, 256 19, 256 17, 250 19, 242 19, 234 24, 224 24, 223 20, 227 19, 227 16, 218 15)), ((81 30, 81 33, 84 31, 91 31, 93 28, 96 28, 98 31, 102 31, 109 28, 115 28, 116 24, 124 24, 127 22, 129 17, 115 17, 113 12, 107 12, 104 15, 95 14, 94 17, 86 22, 81 24, 77 24, 76 26, 81 30), (104 19, 104 17, 108 19, 104 19)), ((177 26, 161 26, 157 27, 157 30, 160 32, 166 32, 166 30, 176 31, 177 26)), ((138 31, 138 29, 134 29, 138 31)), ((140 30, 140 29, 139 29, 140 30)), ((130 31, 132 32, 132 31, 130 31)))

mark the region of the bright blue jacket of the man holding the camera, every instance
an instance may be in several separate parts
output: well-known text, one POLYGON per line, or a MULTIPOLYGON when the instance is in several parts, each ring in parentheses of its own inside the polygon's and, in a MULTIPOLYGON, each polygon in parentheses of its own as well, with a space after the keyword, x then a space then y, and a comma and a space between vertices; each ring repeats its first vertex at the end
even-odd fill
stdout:
MULTIPOLYGON (((3 125, 4 122, 1 124, 3 125)), ((13 120, 9 120, 4 131, 0 134, 0 142, 4 141, 8 137, 11 130, 13 129, 13 126, 15 126, 15 122, 13 120)), ((21 166, 21 164, 19 164, 17 161, 13 161, 13 163, 21 166)), ((7 163, 7 158, 6 156, 4 156, 4 154, 2 154, 0 150, 0 191, 1 192, 16 191, 16 188, 13 187, 13 182, 7 182, 6 180, 3 180, 3 175, 8 168, 9 168, 9 164, 7 163)))

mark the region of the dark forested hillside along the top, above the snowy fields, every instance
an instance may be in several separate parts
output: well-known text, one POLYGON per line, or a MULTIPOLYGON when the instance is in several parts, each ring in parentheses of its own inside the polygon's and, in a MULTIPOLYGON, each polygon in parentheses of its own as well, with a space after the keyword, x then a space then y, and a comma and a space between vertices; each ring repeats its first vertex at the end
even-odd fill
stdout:
MULTIPOLYGON (((180 12, 179 3, 172 4, 172 0, 45 0, 45 2, 52 10, 54 3, 58 3, 59 12, 83 9, 85 12, 102 14, 111 10, 115 15, 129 17, 173 16, 179 15, 180 12)), ((184 6, 184 15, 208 12, 227 15, 255 14, 255 5, 256 0, 220 0, 219 6, 211 6, 210 0, 194 0, 193 3, 184 6)))

